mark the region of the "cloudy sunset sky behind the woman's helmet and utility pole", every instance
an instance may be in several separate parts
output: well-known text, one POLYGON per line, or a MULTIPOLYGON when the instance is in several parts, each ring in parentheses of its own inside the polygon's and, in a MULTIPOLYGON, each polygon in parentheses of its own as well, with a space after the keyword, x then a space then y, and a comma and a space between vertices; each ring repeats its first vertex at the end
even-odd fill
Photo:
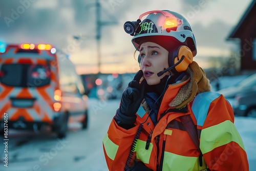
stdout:
MULTIPOLYGON (((0 0, 0 41, 7 44, 47 43, 68 52, 79 74, 97 73, 96 1, 89 0, 0 0), (16 12, 16 15, 14 14, 16 12), (10 20, 8 20, 8 18, 10 20), (79 36, 80 39, 74 39, 79 36)), ((137 20, 150 10, 170 10, 187 18, 195 34, 202 68, 209 57, 228 56, 238 44, 226 38, 238 24, 252 0, 101 0, 102 73, 136 72, 132 36, 123 30, 127 20, 137 20)), ((238 51, 238 50, 237 50, 238 51)), ((136 55, 137 56, 137 55, 136 55)))

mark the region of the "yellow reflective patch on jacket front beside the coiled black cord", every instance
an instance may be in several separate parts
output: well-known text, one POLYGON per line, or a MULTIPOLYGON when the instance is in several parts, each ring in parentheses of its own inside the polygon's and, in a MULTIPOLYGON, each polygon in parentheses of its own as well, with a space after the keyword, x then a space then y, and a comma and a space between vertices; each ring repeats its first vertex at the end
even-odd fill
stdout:
POLYGON ((148 149, 145 149, 146 141, 138 140, 136 145, 136 158, 140 159, 143 163, 150 163, 150 156, 153 149, 152 143, 148 149))

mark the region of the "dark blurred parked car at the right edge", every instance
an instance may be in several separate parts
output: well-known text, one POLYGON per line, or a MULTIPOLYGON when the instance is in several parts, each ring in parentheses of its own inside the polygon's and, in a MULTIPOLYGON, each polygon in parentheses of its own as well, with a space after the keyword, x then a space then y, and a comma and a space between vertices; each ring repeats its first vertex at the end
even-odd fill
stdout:
POLYGON ((256 87, 252 91, 238 94, 232 107, 235 115, 256 118, 256 87))

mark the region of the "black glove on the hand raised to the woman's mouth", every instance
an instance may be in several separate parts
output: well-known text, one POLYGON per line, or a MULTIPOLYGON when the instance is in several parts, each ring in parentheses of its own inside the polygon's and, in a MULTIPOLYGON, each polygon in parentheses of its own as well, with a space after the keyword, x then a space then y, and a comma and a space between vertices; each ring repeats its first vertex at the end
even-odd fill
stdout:
POLYGON ((146 80, 143 79, 142 82, 139 83, 142 76, 142 70, 138 71, 134 79, 129 82, 128 87, 124 89, 119 108, 114 116, 117 124, 124 129, 130 129, 134 126, 136 113, 144 98, 146 80))

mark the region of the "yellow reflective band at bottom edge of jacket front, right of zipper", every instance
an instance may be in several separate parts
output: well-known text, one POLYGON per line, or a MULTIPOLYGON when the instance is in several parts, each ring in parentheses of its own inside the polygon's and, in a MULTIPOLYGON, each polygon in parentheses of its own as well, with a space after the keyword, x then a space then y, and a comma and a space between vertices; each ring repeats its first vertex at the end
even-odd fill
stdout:
POLYGON ((170 152, 164 152, 163 171, 166 170, 202 170, 207 168, 203 160, 200 167, 198 157, 181 156, 170 152))

